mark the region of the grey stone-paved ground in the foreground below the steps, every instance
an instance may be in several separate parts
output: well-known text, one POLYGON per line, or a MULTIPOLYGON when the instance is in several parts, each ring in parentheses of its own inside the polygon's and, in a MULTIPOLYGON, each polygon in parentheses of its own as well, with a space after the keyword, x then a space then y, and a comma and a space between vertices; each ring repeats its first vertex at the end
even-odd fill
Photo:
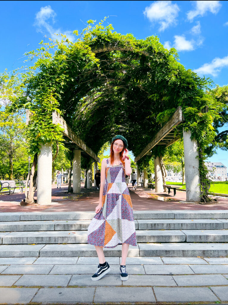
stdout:
POLYGON ((97 257, 0 258, 0 303, 228 303, 227 257, 119 257, 109 274, 91 281, 97 257))

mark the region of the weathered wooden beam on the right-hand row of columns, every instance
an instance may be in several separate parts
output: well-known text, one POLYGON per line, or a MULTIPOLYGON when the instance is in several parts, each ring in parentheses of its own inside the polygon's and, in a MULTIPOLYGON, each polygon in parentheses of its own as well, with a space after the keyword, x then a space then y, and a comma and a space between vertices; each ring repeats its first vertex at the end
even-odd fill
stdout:
MULTIPOLYGON (((173 131, 173 129, 179 125, 181 122, 183 122, 182 118, 182 110, 181 107, 179 106, 169 122, 167 122, 160 130, 159 132, 156 133, 155 137, 153 140, 143 149, 143 151, 135 158, 135 162, 137 162, 139 159, 141 159, 143 156, 145 156, 155 145, 166 145, 166 143, 159 143, 162 141, 163 138, 169 135, 170 132, 173 131)), ((173 133, 173 132, 172 132, 173 133)), ((176 140, 177 141, 177 140, 176 140)), ((175 142, 176 142, 175 141, 175 142)), ((167 143, 168 145, 169 143, 167 143)), ((171 143, 172 144, 172 143, 171 143)), ((170 144, 170 145, 171 145, 170 144)), ((168 145, 169 146, 169 145, 168 145)))

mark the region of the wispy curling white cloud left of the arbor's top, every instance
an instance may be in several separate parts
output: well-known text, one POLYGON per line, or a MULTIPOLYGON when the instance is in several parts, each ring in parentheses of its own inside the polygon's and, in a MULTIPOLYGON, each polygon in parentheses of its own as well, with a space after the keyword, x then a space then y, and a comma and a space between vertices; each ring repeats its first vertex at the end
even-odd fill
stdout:
POLYGON ((56 13, 53 11, 50 5, 41 7, 40 11, 36 14, 35 17, 35 25, 38 26, 38 30, 45 29, 49 34, 64 34, 69 41, 74 41, 75 37, 72 35, 70 31, 61 31, 61 29, 55 29, 50 24, 50 19, 52 19, 52 23, 55 23, 56 13))

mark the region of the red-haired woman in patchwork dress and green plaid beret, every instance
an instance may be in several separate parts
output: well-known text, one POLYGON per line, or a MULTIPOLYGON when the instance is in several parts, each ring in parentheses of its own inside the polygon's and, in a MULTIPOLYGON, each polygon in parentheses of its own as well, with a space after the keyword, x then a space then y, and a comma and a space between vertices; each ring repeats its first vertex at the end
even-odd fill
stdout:
POLYGON ((98 269, 91 277, 93 281, 110 271, 103 248, 117 245, 122 245, 120 279, 126 281, 129 245, 137 246, 132 203, 125 182, 125 175, 132 172, 127 146, 126 138, 116 135, 112 138, 110 157, 102 160, 99 204, 87 233, 87 242, 95 246, 99 259, 98 269))

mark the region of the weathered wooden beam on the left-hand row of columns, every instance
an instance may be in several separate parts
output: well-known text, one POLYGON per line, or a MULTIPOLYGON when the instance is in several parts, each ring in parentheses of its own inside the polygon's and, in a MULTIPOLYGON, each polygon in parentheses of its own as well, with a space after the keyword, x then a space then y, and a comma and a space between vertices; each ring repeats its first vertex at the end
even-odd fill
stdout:
POLYGON ((80 147, 81 150, 87 153, 87 155, 91 156, 94 161, 100 163, 100 159, 95 154, 95 152, 90 149, 85 142, 79 138, 69 127, 69 125, 66 123, 66 121, 56 112, 52 112, 52 123, 56 125, 60 125, 64 130, 62 133, 68 137, 74 144, 76 144, 78 147, 80 147))

